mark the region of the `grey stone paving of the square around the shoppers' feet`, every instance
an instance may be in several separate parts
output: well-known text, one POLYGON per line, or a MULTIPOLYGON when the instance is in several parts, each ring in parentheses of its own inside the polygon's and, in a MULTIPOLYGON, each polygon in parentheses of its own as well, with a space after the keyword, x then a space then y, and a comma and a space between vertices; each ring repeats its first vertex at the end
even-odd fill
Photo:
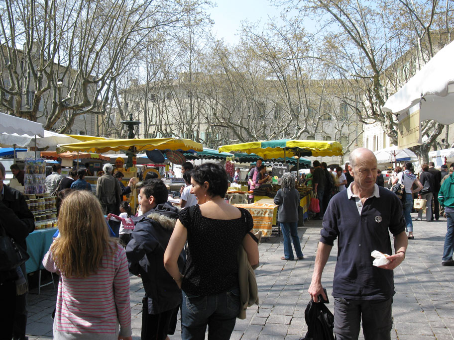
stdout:
MULTIPOLYGON (((413 214, 413 218, 416 215, 413 214)), ((413 222, 415 240, 409 241, 405 261, 395 269, 396 295, 393 303, 391 339, 454 339, 454 267, 441 265, 446 218, 434 222, 413 222)), ((231 339, 298 340, 306 333, 304 310, 309 302, 321 221, 311 220, 299 228, 304 260, 283 261, 282 236, 273 235, 259 246, 260 266, 256 270, 259 308, 247 310, 245 320, 237 320, 231 339)), ((331 297, 337 247, 333 248, 324 270, 322 284, 331 297)), ((372 258, 371 258, 372 260, 372 258)), ((133 339, 140 339, 141 300, 139 278, 131 276, 133 339)), ((27 334, 30 340, 52 339, 52 318, 56 289, 52 285, 31 290, 27 334)), ((333 311, 333 304, 329 305, 333 311)), ((180 324, 170 339, 180 339, 180 324)), ((360 335, 362 338, 362 334, 360 335)))

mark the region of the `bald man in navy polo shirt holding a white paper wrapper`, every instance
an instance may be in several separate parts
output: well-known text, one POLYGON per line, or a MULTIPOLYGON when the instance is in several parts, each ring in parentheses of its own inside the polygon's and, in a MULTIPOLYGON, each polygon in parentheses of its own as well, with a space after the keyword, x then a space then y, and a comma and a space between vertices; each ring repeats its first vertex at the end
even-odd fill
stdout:
POLYGON ((395 294, 393 269, 405 258, 407 235, 402 203, 388 189, 375 184, 377 160, 364 148, 350 154, 348 170, 354 181, 330 201, 315 259, 309 294, 326 299, 322 272, 338 239, 338 260, 333 281, 334 328, 337 340, 358 339, 360 322, 365 340, 390 339, 391 304, 395 294), (390 263, 372 265, 370 253, 392 254, 390 263))

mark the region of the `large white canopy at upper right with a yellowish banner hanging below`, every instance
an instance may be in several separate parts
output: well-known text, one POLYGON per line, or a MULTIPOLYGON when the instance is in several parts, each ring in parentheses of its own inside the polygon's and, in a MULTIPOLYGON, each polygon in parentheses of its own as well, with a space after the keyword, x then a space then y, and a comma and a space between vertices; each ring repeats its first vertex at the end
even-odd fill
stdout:
POLYGON ((383 111, 397 115, 419 108, 420 120, 454 123, 454 42, 441 49, 416 75, 390 96, 383 111))

